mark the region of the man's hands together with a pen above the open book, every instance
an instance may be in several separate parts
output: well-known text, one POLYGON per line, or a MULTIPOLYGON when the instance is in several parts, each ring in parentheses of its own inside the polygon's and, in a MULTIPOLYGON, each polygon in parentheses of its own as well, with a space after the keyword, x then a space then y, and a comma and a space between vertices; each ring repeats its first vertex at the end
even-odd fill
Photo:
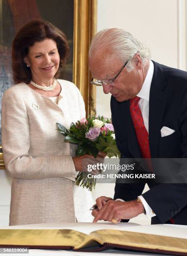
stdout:
POLYGON ((122 219, 131 219, 144 212, 144 207, 141 202, 137 200, 121 202, 114 200, 107 200, 109 197, 97 198, 98 209, 92 211, 95 217, 93 223, 98 220, 112 221, 112 219, 120 222, 122 219))

